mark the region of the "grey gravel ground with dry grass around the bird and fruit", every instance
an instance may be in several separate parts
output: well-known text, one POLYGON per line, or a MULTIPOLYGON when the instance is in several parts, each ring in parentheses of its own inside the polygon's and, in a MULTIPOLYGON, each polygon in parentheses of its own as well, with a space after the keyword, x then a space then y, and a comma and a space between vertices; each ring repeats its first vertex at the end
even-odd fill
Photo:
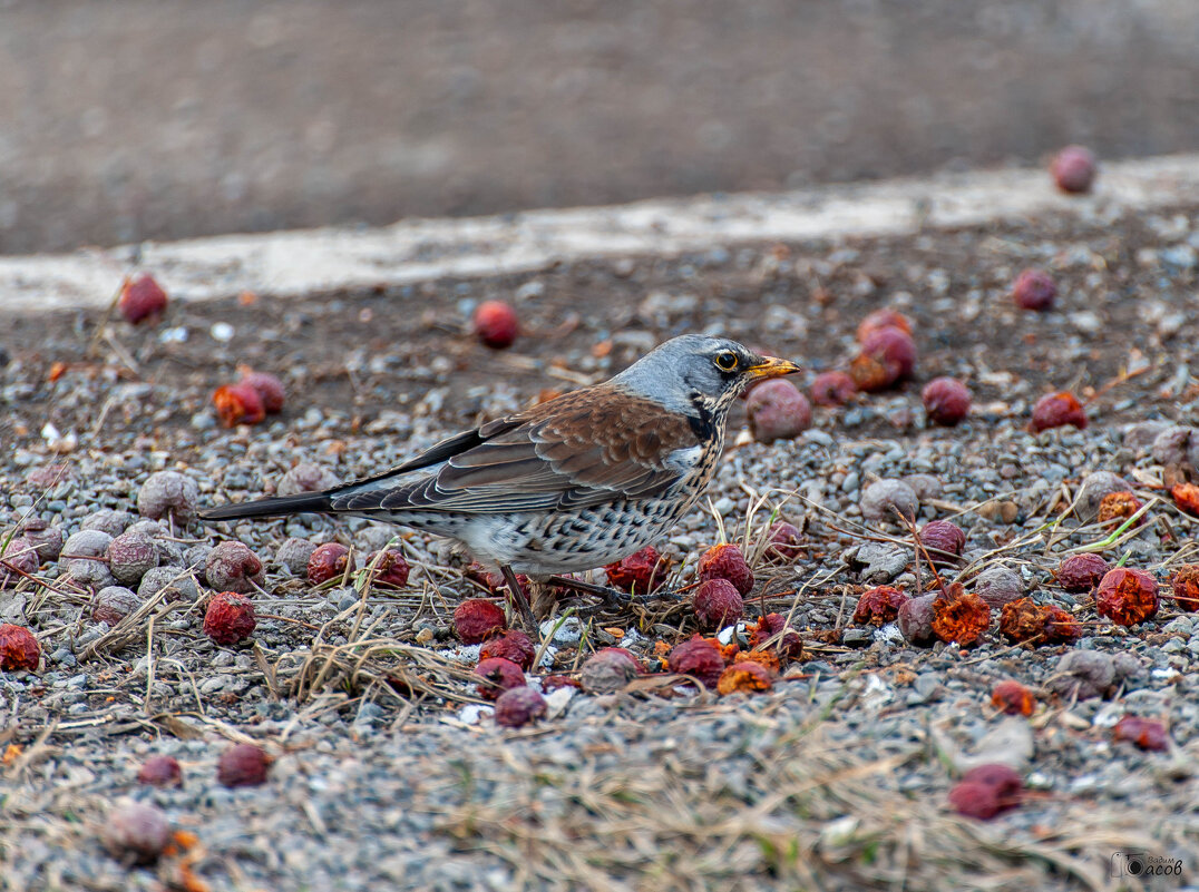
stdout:
MULTIPOLYGON (((312 586, 276 560, 285 537, 360 554, 397 534, 324 518, 150 529, 158 560, 195 591, 156 596, 115 631, 92 619, 103 565, 43 560, 0 591, 0 621, 28 625, 37 673, 0 674, 0 860, 13 890, 128 888, 1177 888, 1199 870, 1199 622, 1163 598, 1121 627, 1053 571, 1071 549, 1164 581, 1195 558, 1199 522, 1163 492, 1194 453, 1155 435, 1199 417, 1199 209, 1152 217, 1029 219, 912 239, 764 245, 677 259, 564 265, 548 273, 434 282, 272 302, 176 303, 155 327, 96 314, 5 320, 0 508, 65 535, 120 532, 156 470, 195 482, 201 504, 273 492, 297 463, 337 478, 378 470, 448 432, 600 380, 681 331, 721 331, 814 370, 843 366, 854 330, 881 306, 915 324, 916 380, 818 409, 795 440, 735 436, 711 490, 662 549, 674 585, 703 548, 749 543, 772 513, 802 526, 793 563, 755 566, 755 617, 789 613, 801 659, 767 693, 717 697, 653 679, 590 695, 564 688, 522 730, 496 728, 450 616, 478 591, 444 542, 400 540, 414 572, 397 592, 312 586), (1049 313, 1018 311, 1016 273, 1060 287, 1049 313), (492 352, 464 334, 474 305, 514 302, 524 333, 492 352), (239 363, 279 374, 282 416, 224 429, 210 405, 239 363), (968 381, 974 412, 926 426, 920 387, 968 381), (1090 424, 1031 434, 1032 403, 1070 388, 1090 424), (1146 426, 1146 423, 1149 423, 1146 426), (1097 471, 1149 504, 1109 536, 1072 506, 1097 471), (1072 647, 909 645, 857 626, 858 593, 935 580, 903 526, 863 517, 875 480, 922 475, 920 516, 968 536, 946 581, 968 590, 1007 567, 1036 598, 1072 611, 1072 647), (108 513, 100 513, 107 510, 108 513), (114 513, 115 512, 115 513, 114 513), (127 512, 127 513, 126 513, 127 512), (718 524, 716 518, 721 518, 718 524), (251 641, 201 631, 207 549, 224 540, 266 562, 251 641), (89 568, 90 567, 90 568, 89 568), (91 580, 90 583, 88 580, 91 580), (194 599, 191 596, 195 596, 194 599), (1113 674, 1099 697, 1064 692, 1061 661, 1090 652, 1113 674), (996 681, 1036 695, 1031 717, 990 705, 996 681), (1159 719, 1164 752, 1115 741, 1123 715, 1159 719), (225 789, 217 759, 257 742, 275 759, 260 786, 225 789), (151 754, 182 765, 180 789, 141 786, 151 754), (981 822, 947 792, 980 761, 1012 764, 1028 792, 981 822), (152 801, 194 837, 129 867, 101 845, 122 796, 152 801), (1183 876, 1111 879, 1119 852, 1181 861, 1183 876)), ((733 420, 733 433, 745 426, 733 420)), ((1079 500, 1083 504, 1084 500, 1079 500)), ((144 528, 145 529, 145 528, 144 528)), ((79 540, 77 540, 77 543, 79 540)), ((597 580, 602 575, 597 574, 597 580)), ((185 584, 180 587, 187 589, 185 584)), ((577 673, 620 643, 652 663, 694 631, 686 599, 627 610, 565 602, 582 621, 543 627, 532 675, 577 673)), ((1123 862, 1120 862, 1123 863, 1123 862)))

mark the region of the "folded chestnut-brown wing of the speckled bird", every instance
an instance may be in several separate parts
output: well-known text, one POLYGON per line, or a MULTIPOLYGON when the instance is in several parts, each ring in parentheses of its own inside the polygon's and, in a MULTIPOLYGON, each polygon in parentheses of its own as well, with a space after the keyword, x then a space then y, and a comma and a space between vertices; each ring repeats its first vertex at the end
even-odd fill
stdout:
POLYGON ((336 507, 486 514, 644 499, 679 480, 680 469, 667 464, 671 452, 699 445, 686 417, 604 386, 567 393, 454 439, 463 448, 440 459, 445 464, 435 474, 387 486, 388 477, 416 464, 410 463, 347 488, 336 507))

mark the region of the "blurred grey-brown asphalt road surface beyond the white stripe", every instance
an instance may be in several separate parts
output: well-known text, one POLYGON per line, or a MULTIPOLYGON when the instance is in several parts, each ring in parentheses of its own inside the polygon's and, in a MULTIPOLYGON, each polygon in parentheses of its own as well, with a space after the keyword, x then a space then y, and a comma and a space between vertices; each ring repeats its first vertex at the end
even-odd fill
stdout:
POLYGON ((0 253, 1199 149, 1194 0, 0 2, 0 253))

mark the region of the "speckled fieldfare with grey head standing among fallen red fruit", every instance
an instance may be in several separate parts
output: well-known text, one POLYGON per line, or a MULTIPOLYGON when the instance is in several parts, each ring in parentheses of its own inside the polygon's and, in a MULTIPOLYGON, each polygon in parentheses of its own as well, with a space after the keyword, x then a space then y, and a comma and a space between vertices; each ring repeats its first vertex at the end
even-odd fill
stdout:
POLYGON ((544 581, 644 548, 699 500, 747 386, 800 368, 735 340, 682 334, 616 376, 451 436, 380 475, 200 513, 205 520, 356 514, 462 542, 544 581), (420 472, 420 474, 417 474, 420 472))

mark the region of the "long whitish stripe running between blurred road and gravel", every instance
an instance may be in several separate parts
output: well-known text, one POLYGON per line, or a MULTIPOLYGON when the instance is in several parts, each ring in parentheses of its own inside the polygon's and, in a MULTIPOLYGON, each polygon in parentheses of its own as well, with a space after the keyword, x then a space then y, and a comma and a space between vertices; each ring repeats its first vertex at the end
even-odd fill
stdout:
POLYGON ((1104 164, 1067 197, 1043 170, 977 171, 778 194, 704 195, 499 217, 411 219, 379 229, 229 235, 0 258, 0 308, 103 307, 133 269, 175 297, 319 291, 544 269, 562 260, 671 255, 759 241, 894 235, 1043 213, 1103 219, 1199 201, 1199 155, 1104 164))

